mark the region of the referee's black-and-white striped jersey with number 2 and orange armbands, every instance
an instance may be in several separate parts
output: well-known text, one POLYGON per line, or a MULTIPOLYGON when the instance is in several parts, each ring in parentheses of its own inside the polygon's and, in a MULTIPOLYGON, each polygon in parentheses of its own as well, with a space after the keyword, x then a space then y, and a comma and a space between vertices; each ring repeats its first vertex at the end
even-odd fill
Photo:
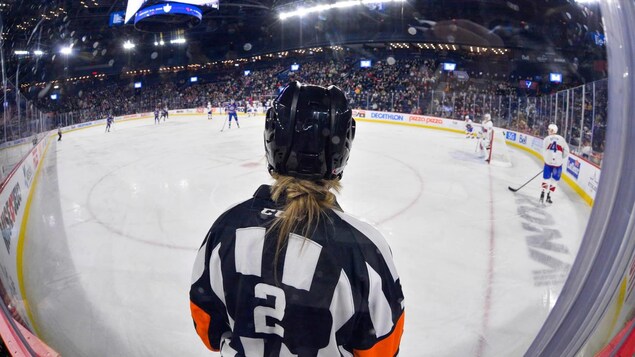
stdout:
POLYGON ((395 356, 404 298, 388 244, 330 210, 310 237, 290 234, 273 267, 270 186, 210 229, 192 273, 198 335, 222 356, 395 356))

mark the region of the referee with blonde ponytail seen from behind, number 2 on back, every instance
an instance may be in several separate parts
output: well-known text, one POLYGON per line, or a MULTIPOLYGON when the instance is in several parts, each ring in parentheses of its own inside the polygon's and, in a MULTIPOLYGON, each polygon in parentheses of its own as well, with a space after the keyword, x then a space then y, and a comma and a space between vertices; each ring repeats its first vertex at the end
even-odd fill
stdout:
POLYGON ((222 214, 195 261, 190 307, 207 348, 221 356, 399 352, 404 302, 390 248, 331 192, 355 136, 351 114, 339 88, 297 82, 267 111, 275 183, 222 214))

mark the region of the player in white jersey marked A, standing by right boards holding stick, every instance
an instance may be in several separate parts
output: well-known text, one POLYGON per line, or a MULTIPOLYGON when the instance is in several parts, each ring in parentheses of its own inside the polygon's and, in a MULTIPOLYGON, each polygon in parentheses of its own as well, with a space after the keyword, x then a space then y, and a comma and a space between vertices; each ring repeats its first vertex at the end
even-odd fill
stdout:
POLYGON ((545 192, 547 192, 547 203, 553 203, 551 194, 556 191, 556 182, 560 181, 562 175, 562 164, 569 156, 569 145, 562 136, 557 134, 558 126, 549 124, 547 130, 549 135, 542 142, 542 157, 545 160, 545 168, 542 172, 540 203, 544 202, 545 192))

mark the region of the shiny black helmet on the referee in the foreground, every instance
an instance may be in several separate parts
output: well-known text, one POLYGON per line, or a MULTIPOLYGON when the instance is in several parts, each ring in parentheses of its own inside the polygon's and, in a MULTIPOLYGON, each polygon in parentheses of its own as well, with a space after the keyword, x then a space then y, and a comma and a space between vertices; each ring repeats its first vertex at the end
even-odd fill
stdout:
POLYGON ((342 177, 355 120, 339 88, 294 81, 267 110, 264 136, 270 173, 332 180, 342 177))

